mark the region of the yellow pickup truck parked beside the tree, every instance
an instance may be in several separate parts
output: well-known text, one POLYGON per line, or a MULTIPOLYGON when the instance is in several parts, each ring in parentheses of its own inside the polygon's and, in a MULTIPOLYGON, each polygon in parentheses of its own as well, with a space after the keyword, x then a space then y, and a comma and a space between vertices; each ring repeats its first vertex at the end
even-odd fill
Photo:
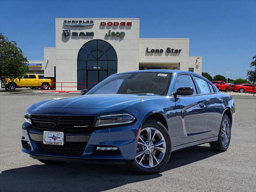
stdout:
MULTIPOLYGON (((10 81, 6 79, 6 81, 10 81)), ((8 83, 10 90, 14 90, 17 87, 30 87, 41 88, 43 90, 49 89, 50 86, 54 86, 54 78, 38 78, 38 74, 26 74, 20 79, 15 79, 13 82, 8 83)))

